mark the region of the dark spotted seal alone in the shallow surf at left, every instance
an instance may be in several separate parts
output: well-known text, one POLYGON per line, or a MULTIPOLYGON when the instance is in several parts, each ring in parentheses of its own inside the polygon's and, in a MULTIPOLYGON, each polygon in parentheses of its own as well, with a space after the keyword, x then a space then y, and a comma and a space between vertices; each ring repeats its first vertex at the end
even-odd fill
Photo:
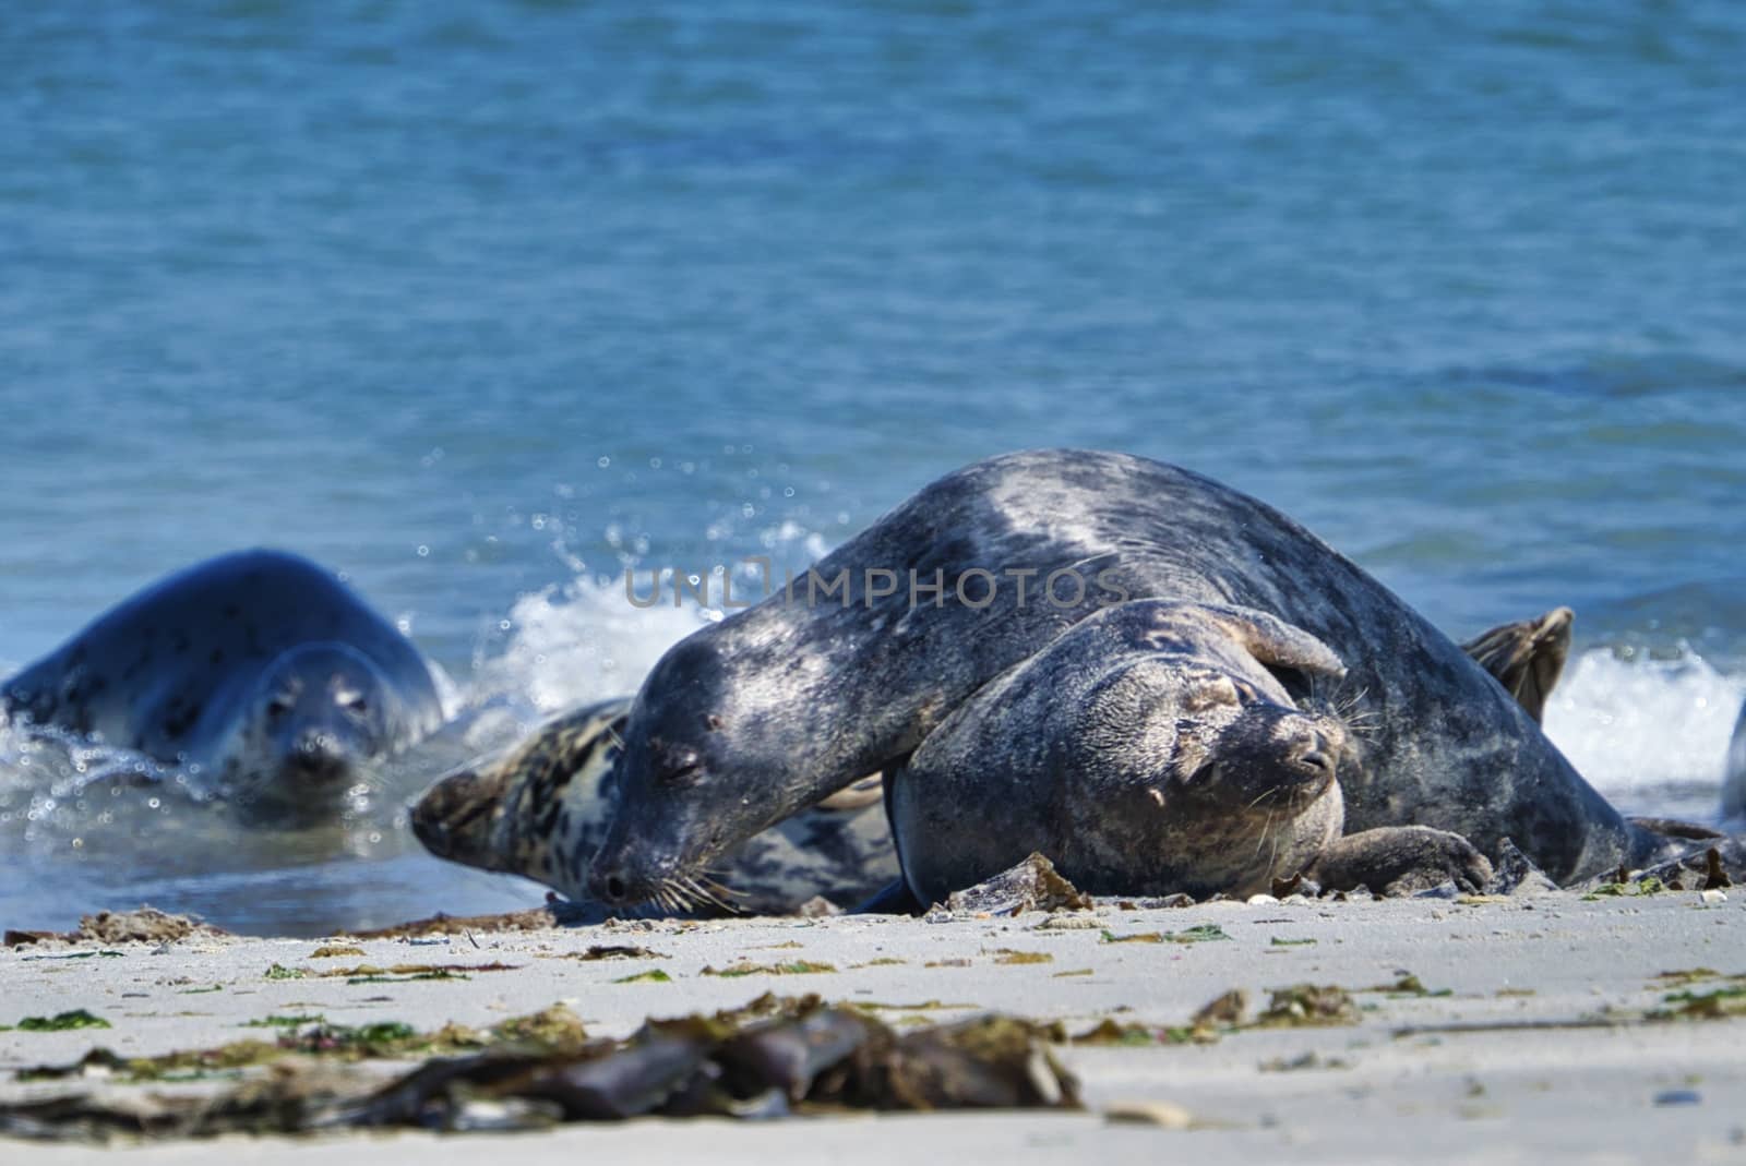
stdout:
POLYGON ((244 820, 320 820, 442 723, 424 656, 307 559, 220 555, 141 590, 0 689, 9 712, 204 772, 244 820))

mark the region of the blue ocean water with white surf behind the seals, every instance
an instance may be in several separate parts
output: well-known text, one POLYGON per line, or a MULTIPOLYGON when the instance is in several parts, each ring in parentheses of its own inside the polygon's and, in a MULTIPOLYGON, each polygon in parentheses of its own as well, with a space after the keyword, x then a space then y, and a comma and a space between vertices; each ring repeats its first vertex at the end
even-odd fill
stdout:
POLYGON ((1713 813, 1746 10, 1316 7, 9 12, 0 676, 272 545, 506 712, 297 838, 0 730, 0 923, 536 902, 402 805, 711 618, 632 607, 627 566, 805 564, 1035 445, 1255 492, 1458 635, 1575 607, 1554 740, 1713 813))

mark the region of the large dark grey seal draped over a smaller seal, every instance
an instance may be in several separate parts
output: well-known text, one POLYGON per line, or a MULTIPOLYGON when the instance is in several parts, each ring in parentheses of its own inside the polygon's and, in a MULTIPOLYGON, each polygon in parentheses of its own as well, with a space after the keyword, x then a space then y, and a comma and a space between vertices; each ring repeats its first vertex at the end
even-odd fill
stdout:
MULTIPOLYGON (((604 902, 648 899, 890 768, 978 688, 1131 599, 1259 611, 1344 665, 1320 695, 1362 726, 1346 742, 1362 763, 1339 773, 1348 831, 1428 826, 1486 855, 1510 838, 1559 883, 1664 847, 1381 583, 1271 506, 1175 466, 1090 450, 976 463, 805 583, 681 641, 643 684, 590 881, 604 902), (835 588, 822 602, 815 581, 835 588)), ((1269 670, 1294 702, 1313 695, 1313 669, 1269 670)))

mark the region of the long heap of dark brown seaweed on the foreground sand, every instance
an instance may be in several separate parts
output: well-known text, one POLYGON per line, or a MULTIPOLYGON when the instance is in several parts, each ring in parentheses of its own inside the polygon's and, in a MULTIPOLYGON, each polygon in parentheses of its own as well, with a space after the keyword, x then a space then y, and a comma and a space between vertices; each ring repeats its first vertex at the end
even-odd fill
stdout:
POLYGON ((0 1105, 0 1133, 110 1142, 527 1129, 637 1115, 1081 1108, 1077 1082, 1049 1053, 1051 1035, 1004 1016, 897 1035, 857 1009, 766 995, 735 1012, 650 1021, 623 1042, 436 1058, 386 1084, 300 1060, 210 1098, 66 1094, 0 1105))

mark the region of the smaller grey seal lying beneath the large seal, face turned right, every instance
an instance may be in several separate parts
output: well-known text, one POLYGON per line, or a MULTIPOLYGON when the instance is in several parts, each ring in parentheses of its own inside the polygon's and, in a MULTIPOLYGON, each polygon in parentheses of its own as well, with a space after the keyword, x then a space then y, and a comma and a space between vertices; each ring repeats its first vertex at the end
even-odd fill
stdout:
POLYGON ((1303 873, 1386 888, 1426 866, 1430 885, 1482 887, 1491 869, 1456 834, 1341 838, 1336 775, 1362 770, 1362 726, 1315 693, 1344 672, 1254 609, 1142 599, 1088 616, 889 777, 904 880, 941 902, 1041 852, 1095 895, 1250 895, 1303 873))

